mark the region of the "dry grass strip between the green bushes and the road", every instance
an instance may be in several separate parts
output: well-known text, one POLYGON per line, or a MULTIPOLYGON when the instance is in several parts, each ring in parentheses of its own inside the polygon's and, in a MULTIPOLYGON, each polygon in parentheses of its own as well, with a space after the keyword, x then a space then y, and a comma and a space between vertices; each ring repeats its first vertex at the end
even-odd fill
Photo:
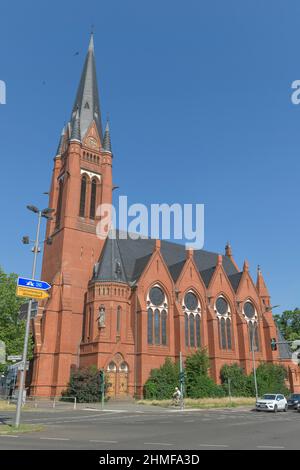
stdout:
MULTIPOLYGON (((162 406, 169 407, 172 406, 172 400, 139 400, 137 402, 139 405, 152 405, 152 406, 162 406)), ((238 406, 255 406, 255 398, 248 397, 232 397, 229 400, 228 397, 225 398, 185 398, 184 400, 185 408, 236 408, 238 406)))

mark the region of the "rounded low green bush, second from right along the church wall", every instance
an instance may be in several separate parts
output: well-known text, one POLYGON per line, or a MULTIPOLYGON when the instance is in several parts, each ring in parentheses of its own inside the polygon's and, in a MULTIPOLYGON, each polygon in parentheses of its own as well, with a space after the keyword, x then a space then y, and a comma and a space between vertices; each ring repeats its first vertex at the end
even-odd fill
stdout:
POLYGON ((230 391, 234 397, 252 396, 252 387, 244 370, 238 364, 225 364, 220 372, 223 389, 229 394, 228 379, 230 379, 230 391))

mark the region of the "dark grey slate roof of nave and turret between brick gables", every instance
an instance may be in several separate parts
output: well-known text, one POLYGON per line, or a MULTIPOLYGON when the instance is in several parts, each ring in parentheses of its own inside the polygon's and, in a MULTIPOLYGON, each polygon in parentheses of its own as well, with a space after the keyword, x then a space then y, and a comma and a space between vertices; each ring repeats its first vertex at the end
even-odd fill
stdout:
MULTIPOLYGON (((124 238, 126 235, 126 232, 116 231, 115 240, 110 238, 106 240, 102 256, 94 272, 94 280, 116 280, 114 263, 118 261, 122 267, 121 282, 132 284, 138 281, 155 250, 155 240, 151 238, 134 240, 129 236, 124 238)), ((160 251, 176 282, 186 261, 185 246, 162 240, 160 251)), ((217 260, 217 253, 205 250, 194 251, 195 264, 206 286, 214 273, 217 260)), ((223 256, 223 267, 229 277, 238 274, 236 267, 227 256, 223 256)))

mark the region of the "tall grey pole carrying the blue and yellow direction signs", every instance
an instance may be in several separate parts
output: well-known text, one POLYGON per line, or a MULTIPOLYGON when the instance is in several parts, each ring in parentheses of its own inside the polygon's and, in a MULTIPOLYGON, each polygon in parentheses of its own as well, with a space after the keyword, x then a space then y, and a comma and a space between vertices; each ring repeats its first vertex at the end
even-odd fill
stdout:
MULTIPOLYGON (((39 237, 40 237, 42 211, 39 211, 38 214, 39 214, 38 225, 37 225, 35 243, 34 243, 34 248, 33 248, 34 256, 33 256, 33 266, 32 266, 32 275, 31 275, 32 279, 35 278, 37 255, 39 252, 39 237)), ((32 299, 30 299, 28 302, 28 310, 27 310, 26 330, 25 330, 23 356, 22 356, 23 367, 20 372, 19 395, 18 395, 16 422, 15 422, 16 428, 20 426, 20 419, 21 419, 23 390, 24 390, 25 378, 26 378, 26 361, 27 361, 28 338, 29 338, 29 329, 30 329, 30 318, 31 318, 31 305, 32 305, 32 299)))

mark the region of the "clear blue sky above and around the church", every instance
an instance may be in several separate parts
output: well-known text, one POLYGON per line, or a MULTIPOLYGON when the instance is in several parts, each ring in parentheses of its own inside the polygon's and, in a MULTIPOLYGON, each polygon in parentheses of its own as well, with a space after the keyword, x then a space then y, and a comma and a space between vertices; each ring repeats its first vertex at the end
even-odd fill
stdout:
MULTIPOLYGON (((279 0, 1 2, 1 256, 28 275, 25 206, 46 206, 91 24, 114 182, 130 202, 204 203, 205 249, 230 240, 281 309, 300 305, 300 4, 279 0), (79 55, 74 55, 77 51, 79 55)), ((279 311, 280 311, 279 310, 279 311)))

